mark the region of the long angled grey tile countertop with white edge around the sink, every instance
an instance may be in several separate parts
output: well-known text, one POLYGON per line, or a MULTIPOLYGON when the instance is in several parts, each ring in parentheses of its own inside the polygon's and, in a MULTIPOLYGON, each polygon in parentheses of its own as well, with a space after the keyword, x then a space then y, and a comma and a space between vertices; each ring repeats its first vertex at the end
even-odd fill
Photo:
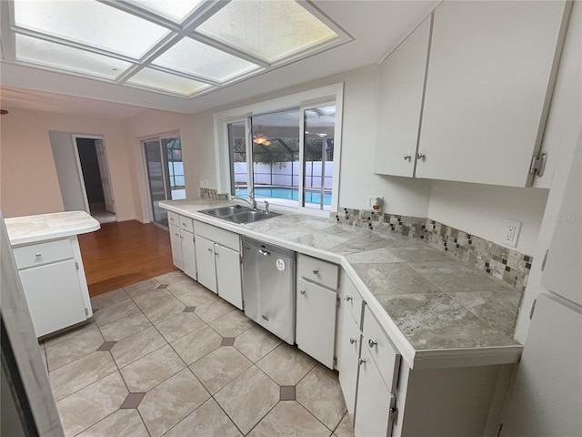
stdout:
POLYGON ((160 206, 241 235, 341 264, 403 358, 517 361, 513 340, 521 291, 426 241, 300 214, 236 225, 197 211, 236 202, 174 200, 160 206), (501 359, 499 357, 504 356, 501 359))

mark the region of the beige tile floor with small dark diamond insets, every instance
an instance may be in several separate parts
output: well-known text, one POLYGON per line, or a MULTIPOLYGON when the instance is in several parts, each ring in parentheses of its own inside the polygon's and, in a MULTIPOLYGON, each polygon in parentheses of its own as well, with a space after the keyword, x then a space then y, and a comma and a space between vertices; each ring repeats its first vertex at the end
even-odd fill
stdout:
POLYGON ((353 436, 336 373, 182 272, 41 343, 65 435, 353 436))

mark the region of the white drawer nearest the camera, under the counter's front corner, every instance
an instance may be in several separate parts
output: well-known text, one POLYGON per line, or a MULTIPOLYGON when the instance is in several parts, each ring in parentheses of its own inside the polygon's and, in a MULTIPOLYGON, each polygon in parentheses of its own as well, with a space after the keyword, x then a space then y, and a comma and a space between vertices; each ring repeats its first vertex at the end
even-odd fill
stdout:
POLYGON ((369 348, 386 387, 390 392, 396 390, 397 375, 400 368, 400 354, 367 305, 364 309, 364 344, 369 348))

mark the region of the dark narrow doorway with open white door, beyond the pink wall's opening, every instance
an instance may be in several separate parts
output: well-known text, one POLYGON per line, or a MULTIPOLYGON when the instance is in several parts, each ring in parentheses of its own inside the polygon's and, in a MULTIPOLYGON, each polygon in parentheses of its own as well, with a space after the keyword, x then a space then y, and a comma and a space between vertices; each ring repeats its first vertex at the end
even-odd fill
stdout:
POLYGON ((117 221, 103 139, 74 136, 74 140, 89 214, 100 223, 117 221))

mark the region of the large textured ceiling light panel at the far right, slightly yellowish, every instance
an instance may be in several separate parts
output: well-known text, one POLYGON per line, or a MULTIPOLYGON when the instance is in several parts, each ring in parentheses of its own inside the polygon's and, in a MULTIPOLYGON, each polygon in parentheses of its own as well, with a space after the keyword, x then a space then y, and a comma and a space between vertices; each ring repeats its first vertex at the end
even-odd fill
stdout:
POLYGON ((269 62, 337 36, 294 0, 233 0, 196 31, 269 62))

